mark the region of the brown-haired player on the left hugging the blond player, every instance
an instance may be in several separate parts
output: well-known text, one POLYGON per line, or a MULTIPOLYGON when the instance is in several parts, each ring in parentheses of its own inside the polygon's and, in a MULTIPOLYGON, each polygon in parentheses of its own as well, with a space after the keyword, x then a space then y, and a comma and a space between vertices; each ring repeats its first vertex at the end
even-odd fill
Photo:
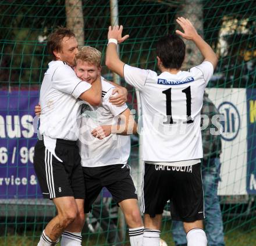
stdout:
POLYGON ((77 138, 80 127, 80 99, 101 104, 101 77, 91 85, 76 76, 74 56, 77 41, 72 31, 58 28, 47 42, 53 56, 40 89, 42 108, 35 145, 34 169, 44 198, 52 199, 58 215, 45 227, 39 246, 81 245, 84 224, 84 177, 77 138), (78 243, 76 243, 78 242, 78 243))

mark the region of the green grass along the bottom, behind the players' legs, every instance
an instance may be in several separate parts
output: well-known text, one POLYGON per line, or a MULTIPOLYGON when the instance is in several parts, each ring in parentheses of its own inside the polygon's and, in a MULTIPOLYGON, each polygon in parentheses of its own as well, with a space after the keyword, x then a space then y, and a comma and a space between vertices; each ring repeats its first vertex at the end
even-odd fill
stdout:
MULTIPOLYGON (((171 222, 170 220, 163 223, 161 238, 166 241, 168 246, 175 246, 172 240, 171 222)), ((2 234, 2 233, 1 233, 2 234)), ((33 233, 27 231, 26 235, 22 234, 8 234, 8 237, 0 237, 1 246, 36 246, 40 237, 40 231, 33 233)), ((256 220, 247 221, 232 221, 225 223, 225 243, 226 246, 255 246, 256 245, 256 220), (237 229, 234 229, 239 227, 237 229), (233 229, 232 229, 233 228, 233 229)), ((60 244, 58 244, 60 245, 60 244)), ((83 235, 83 246, 111 246, 106 243, 103 233, 91 233, 83 235)), ((126 236, 126 243, 123 245, 130 245, 129 238, 126 236)))

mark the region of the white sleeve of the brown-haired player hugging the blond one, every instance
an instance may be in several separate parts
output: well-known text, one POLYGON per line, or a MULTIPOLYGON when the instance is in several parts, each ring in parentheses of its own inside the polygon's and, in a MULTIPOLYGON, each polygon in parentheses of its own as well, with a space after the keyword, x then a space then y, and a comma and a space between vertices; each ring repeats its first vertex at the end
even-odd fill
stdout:
POLYGON ((91 84, 80 80, 70 66, 58 66, 52 76, 52 87, 79 98, 84 91, 91 88, 91 84))

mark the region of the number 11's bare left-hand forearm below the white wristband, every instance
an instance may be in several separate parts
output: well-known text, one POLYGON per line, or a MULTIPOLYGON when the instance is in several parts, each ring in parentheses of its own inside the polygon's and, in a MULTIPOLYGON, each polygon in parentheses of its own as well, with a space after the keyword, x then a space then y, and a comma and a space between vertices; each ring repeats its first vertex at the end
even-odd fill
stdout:
POLYGON ((125 63, 122 62, 122 60, 119 59, 118 51, 116 50, 117 45, 114 43, 109 43, 108 47, 106 48, 106 66, 111 71, 119 74, 119 76, 123 76, 123 66, 125 63))

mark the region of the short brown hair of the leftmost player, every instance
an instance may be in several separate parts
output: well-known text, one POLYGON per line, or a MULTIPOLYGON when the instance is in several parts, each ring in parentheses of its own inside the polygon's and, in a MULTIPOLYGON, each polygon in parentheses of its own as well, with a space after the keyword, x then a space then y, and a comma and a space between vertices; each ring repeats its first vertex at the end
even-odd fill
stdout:
POLYGON ((49 54, 52 55, 52 58, 55 60, 55 55, 54 51, 61 51, 62 50, 62 45, 61 42, 64 37, 74 37, 74 33, 70 31, 66 27, 59 27, 57 28, 54 33, 51 33, 48 37, 47 41, 47 49, 49 54))

